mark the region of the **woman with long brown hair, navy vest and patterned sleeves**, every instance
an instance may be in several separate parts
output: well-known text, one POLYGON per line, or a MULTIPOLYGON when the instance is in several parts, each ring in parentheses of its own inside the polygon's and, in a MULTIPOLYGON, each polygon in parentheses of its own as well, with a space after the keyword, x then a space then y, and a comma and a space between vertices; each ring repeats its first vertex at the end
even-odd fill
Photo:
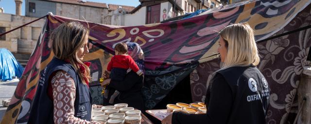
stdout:
POLYGON ((66 22, 51 36, 52 61, 41 71, 30 111, 29 124, 100 124, 91 121, 89 93, 89 30, 77 22, 66 22))

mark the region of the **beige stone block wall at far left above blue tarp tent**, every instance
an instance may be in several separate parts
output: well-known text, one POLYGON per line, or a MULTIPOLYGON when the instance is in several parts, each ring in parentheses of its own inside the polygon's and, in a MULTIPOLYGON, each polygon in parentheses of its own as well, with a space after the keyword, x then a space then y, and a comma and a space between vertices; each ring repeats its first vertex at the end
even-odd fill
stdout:
MULTIPOLYGON (((0 27, 5 27, 5 31, 9 31, 35 19, 37 18, 0 13, 0 27)), ((40 19, 7 33, 5 40, 0 40, 0 47, 7 48, 13 53, 32 53, 44 22, 45 19, 40 19)))

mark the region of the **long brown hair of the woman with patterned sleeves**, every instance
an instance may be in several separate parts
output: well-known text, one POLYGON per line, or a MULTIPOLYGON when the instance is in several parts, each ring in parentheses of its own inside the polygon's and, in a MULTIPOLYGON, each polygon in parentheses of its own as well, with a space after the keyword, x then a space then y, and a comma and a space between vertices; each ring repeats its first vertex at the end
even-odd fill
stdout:
POLYGON ((89 67, 78 58, 77 50, 84 45, 88 35, 89 30, 82 24, 78 22, 65 22, 57 27, 50 37, 55 57, 60 60, 68 60, 84 84, 86 84, 84 78, 88 82, 90 80, 90 71, 89 67), (82 64, 86 68, 85 74, 81 73, 80 66, 77 63, 82 64))

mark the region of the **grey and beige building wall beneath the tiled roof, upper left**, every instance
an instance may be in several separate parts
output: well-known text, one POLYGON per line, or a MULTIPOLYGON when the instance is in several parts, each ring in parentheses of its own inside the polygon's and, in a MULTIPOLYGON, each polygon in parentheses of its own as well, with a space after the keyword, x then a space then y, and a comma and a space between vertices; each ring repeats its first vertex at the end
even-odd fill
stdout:
POLYGON ((111 16, 108 16, 108 8, 97 8, 76 4, 51 2, 43 0, 25 0, 26 16, 30 17, 41 17, 52 12, 57 16, 64 16, 74 19, 84 20, 101 23, 111 24, 111 16), (35 13, 29 12, 29 2, 35 3, 35 13))

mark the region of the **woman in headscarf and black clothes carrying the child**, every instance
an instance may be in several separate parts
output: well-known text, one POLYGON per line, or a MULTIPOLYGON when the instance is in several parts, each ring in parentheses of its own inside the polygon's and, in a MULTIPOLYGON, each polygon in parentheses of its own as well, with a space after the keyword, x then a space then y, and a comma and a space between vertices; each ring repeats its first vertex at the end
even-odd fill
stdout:
MULTIPOLYGON (((139 69, 144 73, 144 53, 142 49, 137 43, 126 43, 126 45, 128 47, 128 55, 133 58, 139 69)), ((109 94, 108 99, 104 98, 104 105, 126 103, 129 107, 144 110, 143 96, 141 93, 143 86, 143 75, 138 76, 134 71, 130 70, 126 74, 123 81, 111 81, 110 78, 105 79, 103 85, 109 84, 109 94), (118 90, 120 94, 114 100, 113 104, 109 104, 109 98, 115 90, 118 90)))

